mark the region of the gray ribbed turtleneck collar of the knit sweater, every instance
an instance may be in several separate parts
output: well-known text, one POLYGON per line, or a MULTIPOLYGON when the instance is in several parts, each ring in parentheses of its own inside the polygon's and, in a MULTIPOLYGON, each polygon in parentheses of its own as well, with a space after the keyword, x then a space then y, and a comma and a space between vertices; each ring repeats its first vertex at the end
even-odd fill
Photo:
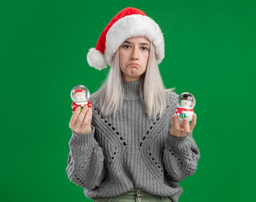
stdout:
POLYGON ((124 100, 138 100, 141 99, 139 93, 139 86, 141 79, 131 82, 123 82, 124 87, 124 100))

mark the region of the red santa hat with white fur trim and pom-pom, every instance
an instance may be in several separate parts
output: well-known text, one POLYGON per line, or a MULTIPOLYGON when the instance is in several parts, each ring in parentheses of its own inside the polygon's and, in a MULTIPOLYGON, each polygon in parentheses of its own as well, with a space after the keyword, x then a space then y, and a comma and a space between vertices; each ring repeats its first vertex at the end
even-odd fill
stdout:
POLYGON ((164 58, 164 37, 157 23, 136 8, 120 11, 102 31, 96 48, 89 49, 87 61, 91 67, 102 70, 112 65, 117 49, 128 38, 144 36, 155 46, 157 64, 164 58))

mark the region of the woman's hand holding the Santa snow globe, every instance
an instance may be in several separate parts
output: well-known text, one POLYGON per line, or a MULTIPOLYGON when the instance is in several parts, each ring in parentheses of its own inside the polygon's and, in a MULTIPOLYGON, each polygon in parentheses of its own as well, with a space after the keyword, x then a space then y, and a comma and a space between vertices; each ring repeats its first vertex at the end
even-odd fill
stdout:
POLYGON ((77 134, 84 134, 92 131, 91 121, 92 121, 92 108, 87 106, 83 108, 80 112, 80 107, 76 108, 74 111, 69 127, 77 134))

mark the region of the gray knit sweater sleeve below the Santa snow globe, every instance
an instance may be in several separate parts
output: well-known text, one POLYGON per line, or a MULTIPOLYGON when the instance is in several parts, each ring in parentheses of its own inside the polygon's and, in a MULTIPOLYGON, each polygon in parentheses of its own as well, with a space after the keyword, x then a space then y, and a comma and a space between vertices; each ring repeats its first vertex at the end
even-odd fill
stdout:
POLYGON ((94 139, 95 128, 88 134, 73 132, 70 139, 70 153, 66 168, 71 182, 86 189, 99 186, 106 175, 104 156, 98 142, 94 139))

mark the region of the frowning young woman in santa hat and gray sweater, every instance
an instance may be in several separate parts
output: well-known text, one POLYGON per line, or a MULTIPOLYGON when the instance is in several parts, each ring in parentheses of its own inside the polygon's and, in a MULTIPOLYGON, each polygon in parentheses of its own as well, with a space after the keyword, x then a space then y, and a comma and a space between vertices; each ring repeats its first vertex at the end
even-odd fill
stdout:
POLYGON ((179 123, 177 94, 158 69, 163 58, 159 26, 135 8, 120 11, 89 50, 89 65, 110 71, 92 108, 70 119, 67 175, 95 202, 177 202, 177 183, 196 171, 196 114, 179 123))

